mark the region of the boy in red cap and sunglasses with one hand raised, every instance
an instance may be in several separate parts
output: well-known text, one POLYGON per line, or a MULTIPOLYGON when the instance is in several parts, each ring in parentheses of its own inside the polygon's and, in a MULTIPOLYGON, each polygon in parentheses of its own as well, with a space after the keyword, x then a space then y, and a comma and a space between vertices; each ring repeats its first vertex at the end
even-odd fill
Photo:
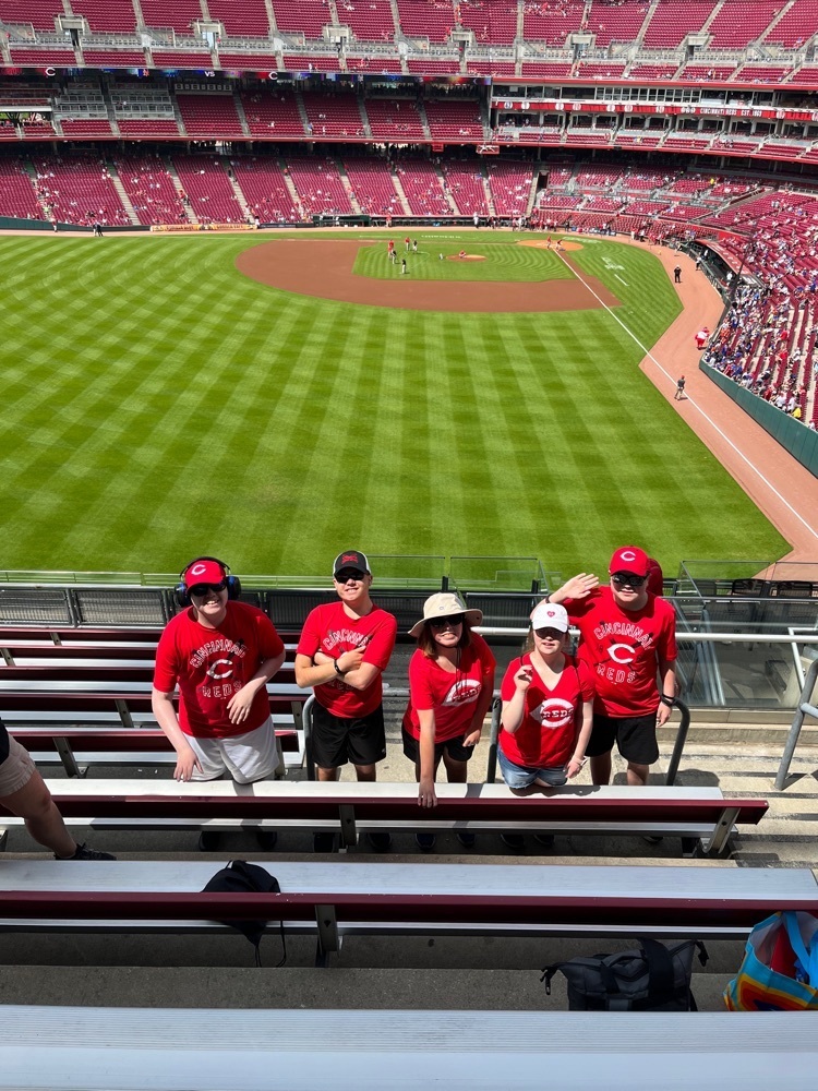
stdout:
POLYGON ((647 783, 659 757, 657 724, 665 723, 676 693, 673 607, 648 589, 650 559, 636 546, 611 558, 611 583, 580 573, 550 596, 577 626, 578 658, 593 671, 597 697, 587 754, 594 784, 611 779, 614 742, 627 762, 628 784, 647 783), (657 688, 657 674, 661 688, 657 688))

